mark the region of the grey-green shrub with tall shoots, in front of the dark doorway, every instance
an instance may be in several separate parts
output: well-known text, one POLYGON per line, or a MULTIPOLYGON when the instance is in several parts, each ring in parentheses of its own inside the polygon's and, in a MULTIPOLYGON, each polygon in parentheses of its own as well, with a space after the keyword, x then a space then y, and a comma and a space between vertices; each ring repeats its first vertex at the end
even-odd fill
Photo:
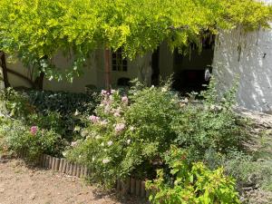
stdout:
POLYGON ((216 159, 219 154, 242 150, 243 141, 249 141, 247 120, 232 111, 235 91, 234 86, 219 98, 211 80, 208 90, 200 94, 203 97, 200 105, 180 104, 170 126, 177 134, 176 143, 189 151, 190 160, 203 160, 211 151, 216 159))

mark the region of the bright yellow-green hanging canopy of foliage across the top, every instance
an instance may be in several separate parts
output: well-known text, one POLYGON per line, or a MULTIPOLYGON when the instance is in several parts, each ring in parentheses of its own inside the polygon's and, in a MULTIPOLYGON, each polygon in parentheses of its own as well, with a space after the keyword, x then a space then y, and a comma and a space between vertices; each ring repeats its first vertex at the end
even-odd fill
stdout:
POLYGON ((97 48, 125 55, 152 51, 162 41, 186 50, 207 31, 268 27, 271 6, 254 0, 1 0, 0 47, 36 73, 62 77, 52 63, 59 51, 75 54, 67 78, 81 72, 97 48))

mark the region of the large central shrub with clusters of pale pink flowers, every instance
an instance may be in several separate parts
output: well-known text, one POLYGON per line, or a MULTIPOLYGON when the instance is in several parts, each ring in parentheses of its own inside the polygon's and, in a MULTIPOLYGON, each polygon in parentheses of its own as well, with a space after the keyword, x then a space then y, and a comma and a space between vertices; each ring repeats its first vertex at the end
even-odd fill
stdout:
POLYGON ((135 86, 128 95, 102 91, 83 140, 67 157, 89 165, 93 178, 109 185, 131 174, 155 174, 154 161, 175 138, 169 124, 178 109, 178 97, 162 88, 135 86))

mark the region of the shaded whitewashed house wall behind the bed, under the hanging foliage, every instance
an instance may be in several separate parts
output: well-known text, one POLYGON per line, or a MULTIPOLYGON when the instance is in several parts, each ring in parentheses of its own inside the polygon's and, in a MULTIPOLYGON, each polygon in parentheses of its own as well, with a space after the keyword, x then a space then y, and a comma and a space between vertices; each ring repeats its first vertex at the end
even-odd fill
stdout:
MULTIPOLYGON (((161 45, 160 49, 160 71, 163 75, 170 75, 172 73, 172 56, 166 44, 161 45)), ((73 56, 64 56, 63 53, 56 54, 53 57, 53 63, 63 70, 71 67, 73 63, 73 56)), ((31 73, 27 68, 24 68, 23 63, 13 62, 7 63, 8 69, 21 73, 27 78, 31 78, 31 73)), ((111 64, 112 67, 112 64, 111 64)), ((131 80, 138 78, 141 82, 151 84, 151 53, 144 56, 138 56, 133 61, 128 61, 128 71, 112 71, 111 83, 112 87, 117 86, 117 81, 120 78, 129 78, 131 80)), ((24 79, 16 76, 13 73, 8 73, 8 81, 13 87, 31 87, 24 79)), ((97 50, 92 53, 90 58, 83 67, 83 74, 80 77, 75 77, 73 83, 55 80, 44 79, 44 90, 51 91, 65 91, 65 92, 85 92, 86 85, 94 85, 97 88, 105 86, 105 72, 104 72, 104 51, 97 50)))

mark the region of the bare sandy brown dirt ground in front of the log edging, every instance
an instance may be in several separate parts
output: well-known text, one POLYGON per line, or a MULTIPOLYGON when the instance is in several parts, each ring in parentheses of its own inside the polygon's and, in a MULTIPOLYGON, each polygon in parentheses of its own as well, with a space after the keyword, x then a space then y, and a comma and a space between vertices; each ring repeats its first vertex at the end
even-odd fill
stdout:
POLYGON ((22 160, 0 161, 0 204, 136 204, 51 170, 27 168, 22 160))

